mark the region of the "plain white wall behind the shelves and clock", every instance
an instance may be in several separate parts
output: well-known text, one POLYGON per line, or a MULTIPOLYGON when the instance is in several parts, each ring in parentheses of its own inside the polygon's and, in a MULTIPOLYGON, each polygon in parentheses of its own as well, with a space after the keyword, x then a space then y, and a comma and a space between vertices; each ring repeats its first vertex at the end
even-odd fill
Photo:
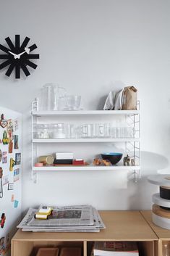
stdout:
POLYGON ((148 174, 166 168, 170 153, 169 0, 15 0, 0 2, 0 44, 28 36, 41 54, 30 77, 0 72, 1 105, 25 114, 23 210, 41 202, 90 203, 98 209, 148 209, 158 187, 148 174), (143 175, 54 173, 30 181, 30 102, 47 82, 81 94, 85 109, 98 109, 110 90, 134 84, 141 101, 143 175), (164 158, 163 158, 164 157, 164 158), (167 159, 166 159, 167 158, 167 159), (131 177, 132 178, 132 177, 131 177))

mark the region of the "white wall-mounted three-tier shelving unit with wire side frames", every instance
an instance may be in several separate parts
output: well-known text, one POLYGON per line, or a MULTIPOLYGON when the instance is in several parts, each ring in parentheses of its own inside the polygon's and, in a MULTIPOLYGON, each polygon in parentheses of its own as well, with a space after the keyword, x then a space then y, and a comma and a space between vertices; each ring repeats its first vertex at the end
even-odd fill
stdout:
POLYGON ((32 104, 32 178, 36 182, 37 173, 44 173, 46 171, 85 171, 85 170, 130 170, 134 173, 135 182, 140 178, 140 110, 138 102, 138 110, 77 110, 77 111, 38 111, 38 102, 35 101, 32 104), (38 123, 41 117, 104 117, 109 116, 109 118, 114 118, 114 116, 124 115, 129 119, 129 123, 132 128, 135 129, 136 135, 134 138, 72 138, 72 139, 35 139, 33 138, 33 125, 38 123), (123 143, 126 148, 126 153, 133 152, 132 157, 138 164, 135 166, 122 166, 122 165, 112 165, 112 166, 46 166, 46 167, 35 167, 34 159, 38 157, 33 155, 33 152, 37 152, 37 146, 45 146, 46 144, 70 144, 70 143, 123 143))

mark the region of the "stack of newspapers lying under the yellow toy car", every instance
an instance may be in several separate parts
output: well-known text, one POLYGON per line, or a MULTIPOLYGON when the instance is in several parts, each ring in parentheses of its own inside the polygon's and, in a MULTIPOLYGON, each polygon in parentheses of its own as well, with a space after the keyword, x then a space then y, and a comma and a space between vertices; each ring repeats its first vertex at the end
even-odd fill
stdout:
MULTIPOLYGON (((41 208, 42 205, 39 209, 41 208)), ((35 219, 38 209, 30 208, 17 228, 33 232, 99 232, 106 228, 98 210, 91 205, 51 208, 53 211, 47 220, 35 219)))

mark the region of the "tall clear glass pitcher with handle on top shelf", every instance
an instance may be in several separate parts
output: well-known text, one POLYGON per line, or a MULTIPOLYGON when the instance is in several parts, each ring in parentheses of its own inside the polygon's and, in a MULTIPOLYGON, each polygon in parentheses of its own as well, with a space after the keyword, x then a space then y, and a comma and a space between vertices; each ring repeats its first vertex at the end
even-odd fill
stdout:
POLYGON ((41 110, 59 110, 59 100, 65 99, 66 89, 46 83, 41 89, 41 110))

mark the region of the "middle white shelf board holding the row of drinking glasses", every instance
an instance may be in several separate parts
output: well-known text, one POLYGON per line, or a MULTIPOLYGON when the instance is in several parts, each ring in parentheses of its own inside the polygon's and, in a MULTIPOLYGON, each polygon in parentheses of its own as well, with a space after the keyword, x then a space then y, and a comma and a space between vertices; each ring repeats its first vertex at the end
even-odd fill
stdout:
POLYGON ((79 143, 79 142, 134 142, 134 141, 140 141, 140 139, 138 138, 117 138, 117 139, 112 139, 112 138, 93 138, 93 139, 33 139, 33 143, 63 143, 63 142, 74 142, 74 143, 79 143))

